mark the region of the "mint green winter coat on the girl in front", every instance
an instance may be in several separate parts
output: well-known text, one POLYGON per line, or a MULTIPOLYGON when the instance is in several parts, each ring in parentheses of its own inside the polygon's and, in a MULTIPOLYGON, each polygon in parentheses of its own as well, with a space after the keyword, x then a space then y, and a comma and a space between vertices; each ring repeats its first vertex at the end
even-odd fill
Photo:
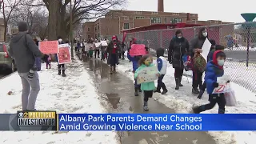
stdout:
MULTIPOLYGON (((150 66, 146 66, 146 65, 142 64, 142 66, 139 66, 138 69, 134 73, 134 78, 137 79, 139 70, 142 70, 146 67, 151 67, 151 66, 154 66, 154 65, 150 64, 150 66)), ((141 90, 155 90, 154 82, 141 83, 141 90)))

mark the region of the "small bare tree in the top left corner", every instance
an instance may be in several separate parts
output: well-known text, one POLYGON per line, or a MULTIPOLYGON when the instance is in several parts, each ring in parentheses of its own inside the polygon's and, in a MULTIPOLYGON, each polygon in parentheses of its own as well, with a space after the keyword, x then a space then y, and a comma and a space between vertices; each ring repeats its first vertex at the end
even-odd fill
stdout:
POLYGON ((14 11, 18 10, 19 4, 22 2, 22 0, 6 0, 3 2, 4 9, 2 9, 2 16, 5 26, 5 32, 4 32, 4 40, 6 41, 6 34, 7 34, 7 26, 10 22, 10 19, 14 18, 13 13, 14 11))

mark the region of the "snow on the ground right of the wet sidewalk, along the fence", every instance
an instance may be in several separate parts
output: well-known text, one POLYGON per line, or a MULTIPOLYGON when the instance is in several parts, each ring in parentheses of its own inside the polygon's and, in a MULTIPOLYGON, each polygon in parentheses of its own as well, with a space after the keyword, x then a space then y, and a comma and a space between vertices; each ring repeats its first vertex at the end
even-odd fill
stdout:
MULTIPOLYGON (((117 70, 123 74, 126 74, 131 80, 134 80, 134 74, 132 73, 132 62, 127 60, 120 60, 120 64, 117 66, 117 70)), ((185 74, 190 75, 188 72, 185 74)), ((170 64, 168 64, 167 74, 163 79, 167 89, 169 90, 166 95, 154 94, 154 99, 158 102, 162 102, 171 109, 176 110, 177 113, 190 113, 191 107, 196 104, 205 104, 208 103, 208 95, 204 94, 202 100, 197 99, 197 95, 191 94, 192 90, 192 79, 188 77, 182 78, 183 87, 180 87, 180 90, 174 90, 175 81, 174 81, 174 69, 170 64)), ((156 82, 157 85, 157 82, 156 82)), ((234 82, 231 82, 236 98, 238 100, 238 106, 235 107, 226 107, 227 114, 255 114, 256 113, 256 98, 255 94, 246 90, 242 86, 238 86, 234 82)), ((207 110, 202 114, 217 114, 218 106, 216 105, 213 110, 207 110)), ((254 144, 256 141, 256 133, 249 132, 209 132, 210 135, 214 136, 215 140, 219 144, 254 144)))

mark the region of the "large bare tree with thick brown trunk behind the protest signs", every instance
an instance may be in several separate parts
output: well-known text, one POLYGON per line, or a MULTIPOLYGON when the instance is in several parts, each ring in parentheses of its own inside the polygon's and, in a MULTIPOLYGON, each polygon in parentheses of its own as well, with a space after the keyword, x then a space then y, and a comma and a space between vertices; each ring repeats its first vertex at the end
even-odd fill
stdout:
POLYGON ((70 15, 72 25, 75 25, 85 19, 102 17, 110 9, 125 6, 127 0, 71 0, 71 11, 70 0, 27 1, 29 6, 46 6, 49 11, 49 39, 56 39, 58 35, 67 38, 70 34, 70 15))

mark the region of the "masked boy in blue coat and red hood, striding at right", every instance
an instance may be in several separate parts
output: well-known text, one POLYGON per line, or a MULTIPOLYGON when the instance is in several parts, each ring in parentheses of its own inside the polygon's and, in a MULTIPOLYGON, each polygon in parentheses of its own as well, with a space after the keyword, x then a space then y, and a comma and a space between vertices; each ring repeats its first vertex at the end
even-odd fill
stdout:
POLYGON ((214 89, 219 86, 217 78, 222 77, 224 74, 223 66, 225 60, 226 54, 221 50, 217 50, 214 52, 213 60, 207 63, 205 82, 210 103, 194 106, 193 111, 195 114, 214 108, 216 103, 218 103, 218 114, 225 114, 226 99, 224 93, 213 94, 214 89))

